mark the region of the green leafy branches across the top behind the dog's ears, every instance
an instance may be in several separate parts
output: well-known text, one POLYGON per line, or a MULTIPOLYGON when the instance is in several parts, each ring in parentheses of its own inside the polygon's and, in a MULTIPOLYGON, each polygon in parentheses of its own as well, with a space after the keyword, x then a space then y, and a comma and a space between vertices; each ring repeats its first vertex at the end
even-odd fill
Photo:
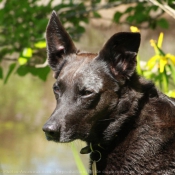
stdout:
MULTIPOLYGON (((159 1, 156 1, 159 2, 159 1)), ((170 9, 173 0, 161 1, 170 9)), ((10 74, 25 76, 30 73, 42 80, 50 71, 45 65, 45 28, 51 11, 54 9, 69 32, 78 41, 92 19, 101 18, 117 24, 135 25, 144 29, 161 27, 168 29, 169 22, 165 19, 165 9, 150 1, 130 0, 1 0, 0 10, 0 63, 13 61, 5 72, 0 66, 0 79, 8 81, 10 74), (55 3, 57 2, 57 3, 55 3), (113 15, 101 14, 102 9, 112 9, 113 15), (15 71, 14 71, 15 70, 15 71)))

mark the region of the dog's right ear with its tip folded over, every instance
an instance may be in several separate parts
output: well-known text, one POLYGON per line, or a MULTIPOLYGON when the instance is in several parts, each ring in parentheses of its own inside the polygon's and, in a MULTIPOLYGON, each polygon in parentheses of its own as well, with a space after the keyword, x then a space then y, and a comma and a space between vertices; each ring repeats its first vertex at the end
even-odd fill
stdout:
POLYGON ((126 80, 134 73, 140 34, 121 32, 114 34, 99 52, 98 59, 107 62, 117 80, 126 80))

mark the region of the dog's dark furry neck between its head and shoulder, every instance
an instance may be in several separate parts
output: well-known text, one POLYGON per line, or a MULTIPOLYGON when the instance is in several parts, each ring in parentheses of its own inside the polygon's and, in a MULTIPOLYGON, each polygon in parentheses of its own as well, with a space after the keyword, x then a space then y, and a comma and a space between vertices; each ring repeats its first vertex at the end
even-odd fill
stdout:
MULTIPOLYGON (((127 86, 127 88, 130 88, 130 90, 127 91, 127 89, 123 89, 123 91, 130 93, 126 93, 127 95, 119 101, 117 108, 107 117, 109 120, 106 120, 105 130, 99 131, 98 137, 96 136, 96 138, 88 140, 88 146, 92 144, 92 146, 98 149, 96 145, 101 145, 104 150, 113 150, 117 144, 121 143, 127 137, 130 131, 135 129, 140 112, 145 104, 148 103, 149 98, 158 96, 158 92, 152 83, 146 82, 143 84, 142 78, 138 76, 133 77, 131 81, 133 81, 134 85, 137 83, 137 89, 132 86, 132 82, 128 82, 130 86, 127 86), (126 101, 129 102, 128 106, 124 109, 123 104, 126 104, 126 101)), ((123 91, 121 93, 124 93, 123 91)), ((100 149, 100 151, 103 150, 100 149)))

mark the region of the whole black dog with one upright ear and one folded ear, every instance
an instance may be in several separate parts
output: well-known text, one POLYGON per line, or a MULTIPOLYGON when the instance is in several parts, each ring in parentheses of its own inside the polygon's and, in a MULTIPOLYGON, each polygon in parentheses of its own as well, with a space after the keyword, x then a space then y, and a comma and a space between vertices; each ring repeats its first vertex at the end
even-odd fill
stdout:
MULTIPOLYGON (((48 140, 83 140, 98 174, 175 174, 175 100, 136 73, 139 33, 117 33, 98 54, 80 52, 55 12, 47 26, 56 109, 48 140)), ((91 174, 91 173, 90 173, 91 174)))

